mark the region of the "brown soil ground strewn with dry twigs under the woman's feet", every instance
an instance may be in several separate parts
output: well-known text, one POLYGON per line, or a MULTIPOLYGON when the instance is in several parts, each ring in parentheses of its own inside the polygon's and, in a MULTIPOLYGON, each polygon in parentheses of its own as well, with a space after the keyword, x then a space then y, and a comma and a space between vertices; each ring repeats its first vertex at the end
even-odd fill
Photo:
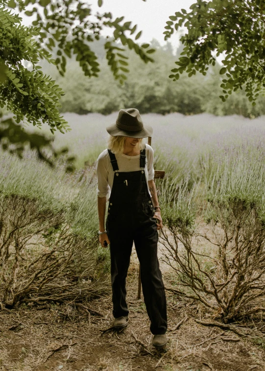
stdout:
MULTIPOLYGON (((159 254, 161 255, 161 254, 159 254)), ((171 272, 161 262, 165 286, 171 272)), ((45 304, 0 310, 0 370, 6 371, 261 371, 265 350, 250 338, 198 324, 207 318, 196 303, 167 291, 168 344, 152 346, 143 299, 137 296, 135 252, 127 280, 129 324, 114 331, 111 296, 83 307, 45 304), (92 310, 91 310, 92 309, 92 310), (94 312, 93 312, 94 311, 94 312), (95 313, 97 312, 97 313, 95 313), (182 318, 188 319, 175 330, 182 318), (107 330, 104 332, 103 330, 107 330)))

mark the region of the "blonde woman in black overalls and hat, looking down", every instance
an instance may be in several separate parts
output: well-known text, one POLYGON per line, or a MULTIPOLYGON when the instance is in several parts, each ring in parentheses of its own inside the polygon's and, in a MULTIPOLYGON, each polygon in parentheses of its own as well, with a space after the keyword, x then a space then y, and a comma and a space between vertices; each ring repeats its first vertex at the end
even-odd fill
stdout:
POLYGON ((153 345, 166 344, 166 298, 157 256, 162 219, 154 182, 153 149, 142 143, 153 129, 143 126, 139 111, 121 109, 106 128, 109 148, 97 160, 99 240, 110 244, 114 327, 127 325, 126 276, 132 244, 141 267, 144 302, 151 321, 153 345), (106 200, 109 196, 106 230, 106 200))

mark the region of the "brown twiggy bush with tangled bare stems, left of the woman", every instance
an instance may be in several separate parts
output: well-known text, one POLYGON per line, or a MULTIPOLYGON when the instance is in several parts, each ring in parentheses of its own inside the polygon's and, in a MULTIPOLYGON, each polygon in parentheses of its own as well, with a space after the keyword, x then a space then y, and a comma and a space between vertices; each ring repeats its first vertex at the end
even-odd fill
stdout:
POLYGON ((91 241, 74 235, 62 213, 20 196, 0 199, 3 303, 83 300, 107 292, 91 241))

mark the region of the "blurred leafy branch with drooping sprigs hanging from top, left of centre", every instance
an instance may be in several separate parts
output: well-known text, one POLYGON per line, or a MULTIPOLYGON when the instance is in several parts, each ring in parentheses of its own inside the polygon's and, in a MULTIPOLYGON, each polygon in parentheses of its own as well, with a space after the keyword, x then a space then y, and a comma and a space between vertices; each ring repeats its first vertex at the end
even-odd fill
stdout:
MULTIPOLYGON (((145 62, 153 61, 150 57, 155 50, 149 44, 139 47, 126 33, 133 35, 137 26, 132 22, 122 23, 124 17, 112 19, 111 13, 93 14, 91 5, 85 1, 67 0, 15 0, 9 1, 9 6, 18 6, 27 16, 35 16, 33 26, 38 27, 37 45, 45 50, 56 51, 55 64, 63 76, 66 71, 66 58, 75 56, 85 76, 98 76, 100 71, 98 57, 91 50, 89 43, 98 40, 103 28, 113 29, 114 41, 120 40, 122 45, 128 45, 145 62), (33 6, 35 4, 39 6, 33 6), (95 21, 94 21, 95 19, 95 21)), ((99 1, 102 5, 102 1, 99 1)), ((141 31, 135 35, 137 40, 141 31)), ((106 41, 106 58, 115 79, 122 83, 126 79, 124 73, 128 72, 127 57, 112 41, 106 41)))

